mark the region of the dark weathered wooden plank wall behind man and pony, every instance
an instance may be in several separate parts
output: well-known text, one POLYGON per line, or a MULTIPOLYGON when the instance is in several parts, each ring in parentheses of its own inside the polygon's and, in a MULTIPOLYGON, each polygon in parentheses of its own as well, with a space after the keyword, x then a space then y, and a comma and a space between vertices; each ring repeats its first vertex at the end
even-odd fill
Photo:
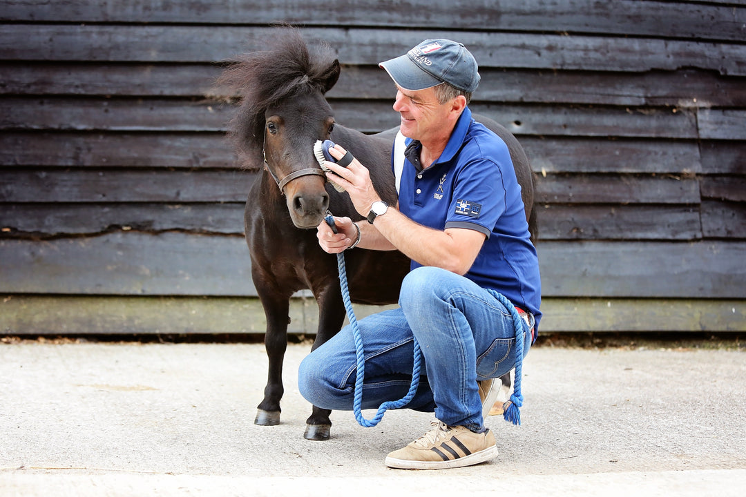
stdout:
MULTIPOLYGON (((0 332, 262 332, 222 63, 301 23, 337 121, 398 122, 377 62, 464 42, 475 112, 538 178, 544 331, 746 330, 746 2, 6 0, 0 332)), ((310 299, 294 332, 313 332, 310 299)))

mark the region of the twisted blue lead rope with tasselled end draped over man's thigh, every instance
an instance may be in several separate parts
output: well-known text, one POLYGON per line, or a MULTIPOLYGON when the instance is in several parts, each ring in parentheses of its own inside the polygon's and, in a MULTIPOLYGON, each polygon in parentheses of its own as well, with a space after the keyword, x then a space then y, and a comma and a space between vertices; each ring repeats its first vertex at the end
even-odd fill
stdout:
MULTIPOLYGON (((334 217, 330 212, 324 218, 329 227, 336 233, 336 226, 334 224, 334 217)), ((416 338, 412 338, 414 346, 414 364, 412 368, 412 383, 410 384, 410 390, 403 398, 399 400, 386 401, 380 405, 377 413, 372 420, 366 420, 363 417, 363 378, 366 374, 366 362, 365 362, 365 351, 363 350, 363 338, 360 336, 360 326, 357 324, 357 317, 355 317, 355 311, 352 308, 352 301, 350 299, 350 288, 347 284, 347 268, 345 265, 345 254, 340 252, 336 254, 336 265, 339 269, 339 286, 342 288, 342 301, 345 303, 345 311, 347 311, 347 317, 350 320, 350 326, 352 326, 352 337, 355 341, 355 356, 357 358, 357 374, 355 378, 355 396, 352 403, 352 410, 355 414, 355 419, 360 426, 365 428, 372 428, 377 425, 380 420, 383 419, 383 414, 389 409, 403 408, 409 404, 417 393, 419 387, 419 377, 422 364, 422 354, 420 346, 417 343, 416 338)), ((499 294, 497 291, 487 289, 500 303, 510 311, 513 317, 513 326, 515 327, 515 380, 513 382, 513 395, 510 396, 510 405, 507 406, 503 413, 503 417, 508 422, 513 422, 514 425, 521 424, 521 412, 519 408, 523 406, 523 395, 521 394, 521 366, 523 364, 523 336, 521 332, 530 332, 530 330, 524 329, 525 322, 518 315, 518 311, 515 310, 515 306, 510 300, 507 300, 504 295, 499 294)))

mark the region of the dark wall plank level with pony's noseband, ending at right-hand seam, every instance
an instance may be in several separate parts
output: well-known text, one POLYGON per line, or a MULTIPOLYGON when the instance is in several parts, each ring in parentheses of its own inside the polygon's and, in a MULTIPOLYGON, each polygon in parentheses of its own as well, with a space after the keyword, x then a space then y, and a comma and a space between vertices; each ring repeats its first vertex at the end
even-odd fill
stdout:
MULTIPOLYGON (((242 202, 256 176, 213 169, 0 169, 0 202, 242 202)), ((537 178, 536 202, 695 204, 700 186, 695 178, 551 174, 537 178)))

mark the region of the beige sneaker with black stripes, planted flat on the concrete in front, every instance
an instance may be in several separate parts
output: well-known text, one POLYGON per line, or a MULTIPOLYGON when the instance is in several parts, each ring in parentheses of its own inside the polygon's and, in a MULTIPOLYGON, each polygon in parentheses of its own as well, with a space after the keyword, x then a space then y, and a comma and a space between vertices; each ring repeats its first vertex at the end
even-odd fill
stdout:
POLYGON ((399 469, 446 469, 483 463, 498 455, 495 435, 474 433, 464 426, 435 420, 430 431, 386 457, 386 466, 399 469))

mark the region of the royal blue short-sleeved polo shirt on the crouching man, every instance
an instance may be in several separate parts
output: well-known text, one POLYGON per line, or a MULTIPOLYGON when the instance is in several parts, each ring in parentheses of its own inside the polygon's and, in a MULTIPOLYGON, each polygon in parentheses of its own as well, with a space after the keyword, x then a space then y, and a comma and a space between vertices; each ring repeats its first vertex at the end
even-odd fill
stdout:
MULTIPOLYGON (((408 138, 405 144, 401 212, 427 227, 484 233, 482 250, 465 276, 530 311, 538 330, 539 259, 529 239, 521 186, 505 142, 474 121, 466 107, 445 150, 429 168, 422 169, 419 163, 419 142, 408 138)), ((412 261, 412 269, 419 266, 412 261)))

